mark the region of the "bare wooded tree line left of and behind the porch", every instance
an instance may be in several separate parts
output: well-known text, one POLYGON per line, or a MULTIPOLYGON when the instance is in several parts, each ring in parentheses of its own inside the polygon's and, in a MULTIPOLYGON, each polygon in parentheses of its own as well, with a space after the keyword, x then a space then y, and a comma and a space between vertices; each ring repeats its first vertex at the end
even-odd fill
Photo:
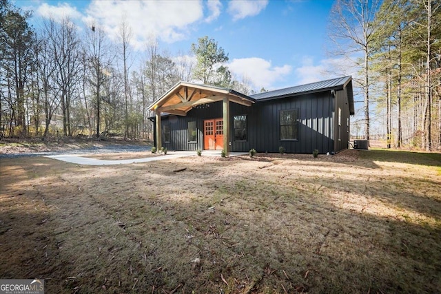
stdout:
POLYGON ((147 107, 178 81, 201 81, 248 93, 223 63, 228 55, 207 36, 191 56, 169 56, 156 40, 134 68, 130 27, 119 40, 96 25, 44 20, 32 28, 30 12, 0 0, 0 136, 49 135, 152 138, 147 107))

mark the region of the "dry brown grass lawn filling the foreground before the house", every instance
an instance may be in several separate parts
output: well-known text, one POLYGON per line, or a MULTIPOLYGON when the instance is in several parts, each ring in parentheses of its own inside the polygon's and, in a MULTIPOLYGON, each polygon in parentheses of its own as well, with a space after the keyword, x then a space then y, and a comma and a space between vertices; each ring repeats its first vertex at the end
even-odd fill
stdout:
POLYGON ((0 165, 0 277, 48 293, 441 288, 440 154, 0 165))

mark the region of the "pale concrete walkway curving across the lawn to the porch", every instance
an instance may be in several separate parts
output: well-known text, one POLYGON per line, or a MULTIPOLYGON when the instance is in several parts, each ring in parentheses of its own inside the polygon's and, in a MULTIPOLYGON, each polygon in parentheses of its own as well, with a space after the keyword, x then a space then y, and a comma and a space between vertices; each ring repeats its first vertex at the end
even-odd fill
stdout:
MULTIPOLYGON (((230 152, 229 156, 238 156, 244 154, 247 153, 230 152)), ((167 159, 172 160, 174 158, 185 157, 185 156, 196 156, 196 151, 168 151, 167 155, 152 156, 147 158, 123 159, 123 160, 101 160, 95 158, 81 157, 79 155, 73 155, 73 154, 59 154, 59 155, 50 155, 45 157, 62 160, 65 162, 75 163, 77 165, 127 165, 130 163, 150 162, 155 160, 167 160, 167 159)), ((220 156, 220 150, 216 150, 216 151, 205 150, 202 151, 202 156, 220 156)))

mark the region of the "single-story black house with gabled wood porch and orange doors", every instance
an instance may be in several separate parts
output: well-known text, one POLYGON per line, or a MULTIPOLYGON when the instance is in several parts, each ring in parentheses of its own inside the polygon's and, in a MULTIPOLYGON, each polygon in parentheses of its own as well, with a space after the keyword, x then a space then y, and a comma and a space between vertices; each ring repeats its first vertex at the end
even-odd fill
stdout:
POLYGON ((348 148, 352 78, 252 95, 180 82, 149 109, 158 149, 336 154, 348 148))

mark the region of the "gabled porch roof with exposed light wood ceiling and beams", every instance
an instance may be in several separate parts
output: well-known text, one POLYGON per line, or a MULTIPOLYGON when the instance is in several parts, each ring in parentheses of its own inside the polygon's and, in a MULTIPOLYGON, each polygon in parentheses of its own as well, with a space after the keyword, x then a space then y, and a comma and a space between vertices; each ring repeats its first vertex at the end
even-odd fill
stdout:
POLYGON ((251 106, 255 102, 254 98, 231 89, 179 82, 148 109, 186 116, 187 112, 196 105, 222 101, 225 97, 229 101, 246 106, 251 106))

